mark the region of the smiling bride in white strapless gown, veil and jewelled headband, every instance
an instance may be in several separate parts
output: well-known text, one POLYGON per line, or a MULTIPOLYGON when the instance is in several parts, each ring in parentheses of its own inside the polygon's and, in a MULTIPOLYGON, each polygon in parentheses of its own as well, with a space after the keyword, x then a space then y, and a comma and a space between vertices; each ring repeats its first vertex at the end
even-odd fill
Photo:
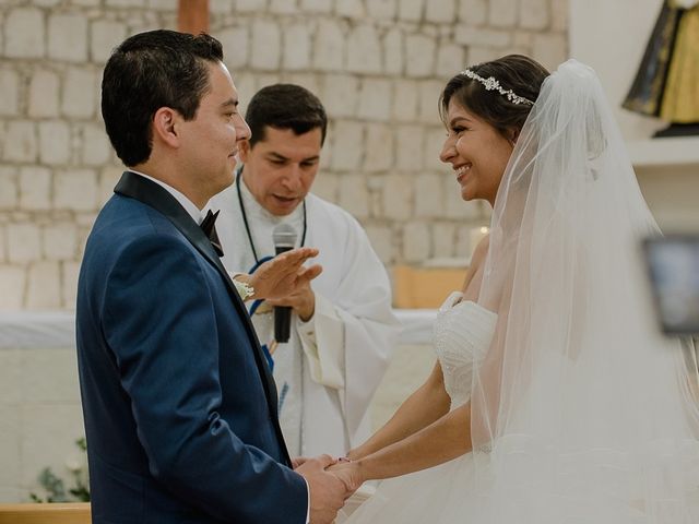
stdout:
POLYGON ((647 310, 637 247, 659 229, 594 71, 508 56, 440 103, 441 159, 491 234, 428 380, 334 466, 400 476, 347 522, 699 522, 697 362, 647 310))

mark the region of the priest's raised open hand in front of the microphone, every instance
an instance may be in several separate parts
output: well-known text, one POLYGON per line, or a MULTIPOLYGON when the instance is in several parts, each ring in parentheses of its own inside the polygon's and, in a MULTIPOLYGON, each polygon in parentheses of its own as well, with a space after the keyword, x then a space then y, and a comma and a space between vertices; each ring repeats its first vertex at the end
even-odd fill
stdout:
POLYGON ((288 297, 299 289, 310 289, 310 281, 323 271, 318 264, 304 267, 304 262, 318 254, 316 248, 298 248, 264 262, 252 275, 238 274, 236 279, 254 289, 249 298, 269 301, 288 297))

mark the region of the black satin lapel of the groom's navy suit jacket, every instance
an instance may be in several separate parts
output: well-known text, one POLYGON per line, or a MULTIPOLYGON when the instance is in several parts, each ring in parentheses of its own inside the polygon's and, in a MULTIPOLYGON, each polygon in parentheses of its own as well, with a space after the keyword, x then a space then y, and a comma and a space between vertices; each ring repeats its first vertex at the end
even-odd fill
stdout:
POLYGON ((131 199, 135 199, 139 202, 142 202, 154 210, 158 211, 163 215, 165 215, 175 227, 189 240, 189 242, 197 248, 197 250, 221 274, 223 281, 226 283, 226 287, 228 288, 228 295, 235 305, 236 311, 240 317, 240 321, 244 323, 245 329, 248 332, 248 336, 250 337, 251 345, 253 346, 253 355, 254 361, 258 367, 258 371, 260 372, 260 378, 262 379, 262 385, 264 388, 264 393, 266 395, 266 402, 269 409, 272 414, 272 419, 274 421, 274 427, 277 433, 279 441, 281 443, 282 452, 284 454, 284 458, 286 458, 287 464, 291 464, 291 458, 288 455, 288 451, 286 450, 286 443, 284 442, 284 438, 282 436, 282 430, 279 425, 277 414, 277 393, 276 386, 274 385, 274 378, 270 371, 269 366, 266 365, 266 360, 262 355, 262 348, 260 347, 260 342, 258 341, 257 333, 254 327, 252 326, 252 322, 250 321, 250 315, 248 314, 248 310, 240 300, 240 296, 236 290, 228 272, 225 270, 223 264, 221 263, 221 259, 214 251, 213 246, 209 238, 201 230, 199 225, 192 219, 192 217, 185 211, 185 209, 177 202, 177 199, 173 196, 165 188, 162 186, 149 180, 147 178, 141 177, 131 171, 125 171, 121 175, 121 179, 114 188, 115 193, 121 194, 123 196, 129 196, 131 199))

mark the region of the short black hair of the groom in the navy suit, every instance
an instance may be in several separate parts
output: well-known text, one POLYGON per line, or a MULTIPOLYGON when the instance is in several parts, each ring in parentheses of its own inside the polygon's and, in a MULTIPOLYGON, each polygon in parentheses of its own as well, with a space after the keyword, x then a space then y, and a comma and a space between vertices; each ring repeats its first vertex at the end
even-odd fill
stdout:
POLYGON ((151 156, 151 123, 161 107, 194 118, 210 88, 209 63, 218 61, 223 48, 214 37, 167 29, 131 36, 114 50, 102 79, 102 117, 125 165, 151 156))

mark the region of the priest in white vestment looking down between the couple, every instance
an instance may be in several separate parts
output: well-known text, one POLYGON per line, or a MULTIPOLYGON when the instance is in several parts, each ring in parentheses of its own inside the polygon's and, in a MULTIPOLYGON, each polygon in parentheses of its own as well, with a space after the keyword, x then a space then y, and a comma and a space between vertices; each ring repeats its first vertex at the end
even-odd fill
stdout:
POLYGON ((209 204, 220 210, 222 261, 232 273, 252 273, 274 255, 280 224, 293 228, 296 247, 320 250, 323 272, 311 284, 247 303, 273 368, 289 453, 342 455, 370 432, 369 403, 398 337, 389 278, 358 222, 309 192, 328 127, 320 100, 298 85, 271 85, 250 99, 246 120, 251 138, 239 147, 236 181, 209 204), (275 340, 275 307, 292 308, 287 342, 275 340))

